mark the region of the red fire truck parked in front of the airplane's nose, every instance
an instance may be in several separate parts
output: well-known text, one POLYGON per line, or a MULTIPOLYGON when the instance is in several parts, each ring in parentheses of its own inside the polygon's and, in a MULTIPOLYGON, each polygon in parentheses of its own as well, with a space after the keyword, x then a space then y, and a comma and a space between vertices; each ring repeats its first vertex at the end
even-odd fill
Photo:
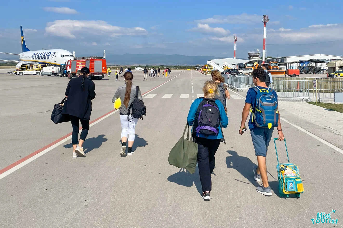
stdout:
POLYGON ((73 76, 79 76, 83 67, 88 67, 90 70, 90 78, 92 80, 103 79, 107 72, 106 59, 103 57, 75 57, 67 62, 67 75, 71 79, 73 76))

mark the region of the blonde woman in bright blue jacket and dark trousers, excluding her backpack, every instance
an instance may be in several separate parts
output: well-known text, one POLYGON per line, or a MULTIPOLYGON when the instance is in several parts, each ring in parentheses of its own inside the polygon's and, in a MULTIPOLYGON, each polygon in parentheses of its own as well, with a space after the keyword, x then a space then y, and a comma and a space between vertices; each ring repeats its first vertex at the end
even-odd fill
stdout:
MULTIPOLYGON (((216 94, 218 94, 218 86, 215 81, 209 80, 206 81, 203 87, 204 98, 213 99, 216 94)), ((203 98, 197 98, 192 103, 187 122, 190 126, 194 125, 194 120, 196 120, 196 115, 198 110, 199 104, 203 101, 203 98)), ((225 109, 223 104, 220 100, 215 100, 215 104, 218 106, 220 112, 220 123, 221 125, 226 128, 228 124, 228 118, 225 113, 225 109)), ((214 120, 215 121, 215 120, 214 120)), ((200 182, 202 186, 202 198, 205 201, 209 201, 210 191, 212 190, 212 180, 211 180, 211 173, 214 170, 215 166, 215 158, 214 155, 220 145, 220 141, 223 138, 221 127, 218 128, 218 135, 204 135, 201 133, 197 133, 194 128, 192 128, 192 135, 193 135, 193 142, 198 144, 198 167, 199 167, 199 175, 200 175, 200 182)))

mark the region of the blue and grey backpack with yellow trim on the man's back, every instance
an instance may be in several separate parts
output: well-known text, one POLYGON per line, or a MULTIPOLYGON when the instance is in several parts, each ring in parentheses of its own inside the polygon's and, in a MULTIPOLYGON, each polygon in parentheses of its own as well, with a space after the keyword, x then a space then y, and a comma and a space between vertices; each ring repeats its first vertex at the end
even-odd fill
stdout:
POLYGON ((273 89, 260 89, 257 86, 252 87, 256 91, 255 110, 250 108, 252 113, 251 122, 258 128, 275 128, 279 121, 279 111, 277 109, 277 100, 273 95, 273 89))

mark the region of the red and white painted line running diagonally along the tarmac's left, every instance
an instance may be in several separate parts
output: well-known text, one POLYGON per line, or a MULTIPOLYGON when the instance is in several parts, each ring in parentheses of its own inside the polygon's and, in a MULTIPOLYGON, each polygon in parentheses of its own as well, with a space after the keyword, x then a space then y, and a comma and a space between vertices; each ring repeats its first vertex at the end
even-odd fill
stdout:
MULTIPOLYGON (((171 80, 175 79, 176 77, 178 77, 179 75, 181 75, 183 72, 179 73, 177 76, 175 76, 174 78, 169 79, 168 81, 162 83, 161 85, 156 86, 155 88, 145 92, 142 94, 142 96, 147 95, 148 93, 158 89, 159 87, 161 87, 162 85, 166 84, 167 82, 170 82, 171 80)), ((100 116, 99 118, 93 120, 90 122, 90 127, 99 123, 100 121, 106 119, 107 117, 113 115, 114 113, 118 112, 119 110, 112 110, 108 113, 106 113, 103 116, 100 116)), ((79 133, 81 132, 82 128, 80 128, 79 133)), ((40 148, 39 150, 36 150, 35 152, 27 155, 26 157, 10 164, 7 167, 4 167, 2 170, 0 170, 0 180, 8 175, 10 175, 11 173, 15 172, 16 170, 19 170, 21 167, 25 166, 26 164, 34 161, 35 159, 39 158, 40 156, 44 155, 45 153, 49 152, 50 150, 58 147, 59 145, 61 145, 64 142, 67 142, 69 139, 71 139, 71 132, 67 135, 64 135, 63 137, 55 140, 54 142, 46 145, 45 147, 40 148)))

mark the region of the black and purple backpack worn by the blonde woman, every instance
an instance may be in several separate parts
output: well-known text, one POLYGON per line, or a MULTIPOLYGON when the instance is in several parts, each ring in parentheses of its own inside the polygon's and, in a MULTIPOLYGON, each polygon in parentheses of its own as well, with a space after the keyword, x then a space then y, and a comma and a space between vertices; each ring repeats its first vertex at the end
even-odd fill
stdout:
POLYGON ((203 101, 199 104, 194 120, 196 136, 218 135, 220 126, 220 111, 215 100, 202 97, 203 101))

